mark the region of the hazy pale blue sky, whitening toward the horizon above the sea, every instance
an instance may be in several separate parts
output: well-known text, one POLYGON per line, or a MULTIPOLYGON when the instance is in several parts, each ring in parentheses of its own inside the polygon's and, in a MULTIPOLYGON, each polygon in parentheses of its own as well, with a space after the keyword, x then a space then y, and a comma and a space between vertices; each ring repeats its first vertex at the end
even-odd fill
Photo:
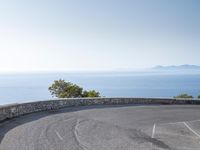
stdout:
POLYGON ((200 65, 200 0, 0 0, 0 71, 200 65))

